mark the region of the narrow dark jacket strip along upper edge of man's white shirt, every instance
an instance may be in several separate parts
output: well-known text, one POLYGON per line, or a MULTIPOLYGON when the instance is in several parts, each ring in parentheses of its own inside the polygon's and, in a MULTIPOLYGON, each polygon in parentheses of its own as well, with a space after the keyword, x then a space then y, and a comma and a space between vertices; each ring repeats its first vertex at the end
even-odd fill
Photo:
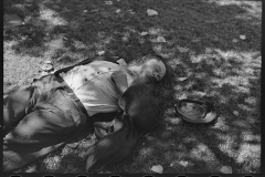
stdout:
POLYGON ((73 67, 77 66, 77 65, 85 65, 85 64, 89 64, 91 62, 93 61, 109 61, 109 62, 114 62, 116 63, 118 61, 119 56, 94 56, 92 59, 86 59, 84 61, 81 61, 78 62, 77 64, 74 64, 72 66, 67 66, 67 67, 64 67, 64 69, 60 69, 57 71, 54 72, 54 75, 59 75, 59 73, 62 73, 62 72, 67 72, 70 70, 72 70, 73 67))

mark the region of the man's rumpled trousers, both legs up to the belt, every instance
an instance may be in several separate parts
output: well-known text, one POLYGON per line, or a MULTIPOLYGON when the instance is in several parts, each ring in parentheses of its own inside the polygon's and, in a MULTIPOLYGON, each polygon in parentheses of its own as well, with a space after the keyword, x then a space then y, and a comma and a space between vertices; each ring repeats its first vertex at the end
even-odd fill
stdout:
POLYGON ((92 117, 74 98, 67 84, 52 74, 3 100, 3 171, 21 168, 51 153, 84 127, 93 129, 92 117))

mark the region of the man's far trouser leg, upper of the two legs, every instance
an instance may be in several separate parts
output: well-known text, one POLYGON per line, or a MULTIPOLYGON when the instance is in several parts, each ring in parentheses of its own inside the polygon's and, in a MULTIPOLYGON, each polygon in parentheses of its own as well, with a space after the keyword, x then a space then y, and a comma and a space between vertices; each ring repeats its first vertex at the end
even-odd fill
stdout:
POLYGON ((54 79, 53 74, 35 79, 31 85, 22 86, 3 98, 3 135, 15 127, 38 102, 45 100, 52 90, 63 85, 54 79))

